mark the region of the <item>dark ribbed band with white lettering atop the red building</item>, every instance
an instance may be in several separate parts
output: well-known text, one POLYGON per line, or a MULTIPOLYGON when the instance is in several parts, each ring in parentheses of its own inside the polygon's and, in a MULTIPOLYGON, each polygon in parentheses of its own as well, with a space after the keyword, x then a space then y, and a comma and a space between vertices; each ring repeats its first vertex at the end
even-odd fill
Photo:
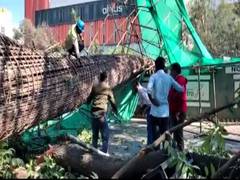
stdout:
POLYGON ((109 5, 108 0, 101 0, 40 10, 35 13, 35 25, 38 26, 42 23, 46 23, 49 26, 72 24, 74 23, 71 15, 72 10, 74 10, 77 16, 84 22, 103 20, 108 14, 117 19, 128 16, 134 7, 116 5, 112 8, 113 13, 110 13, 110 9, 111 5, 109 5))

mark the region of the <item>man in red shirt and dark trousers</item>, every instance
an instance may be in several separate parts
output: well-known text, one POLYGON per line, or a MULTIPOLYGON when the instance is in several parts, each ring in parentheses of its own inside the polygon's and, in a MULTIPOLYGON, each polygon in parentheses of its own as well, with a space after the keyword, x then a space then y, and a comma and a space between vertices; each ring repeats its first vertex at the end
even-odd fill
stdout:
MULTIPOLYGON (((187 112, 187 79, 181 75, 181 66, 178 63, 171 65, 171 76, 184 88, 183 93, 179 93, 174 89, 169 93, 170 107, 170 125, 177 126, 184 122, 187 112)), ((174 140, 179 150, 184 149, 183 129, 179 129, 173 133, 174 140)))

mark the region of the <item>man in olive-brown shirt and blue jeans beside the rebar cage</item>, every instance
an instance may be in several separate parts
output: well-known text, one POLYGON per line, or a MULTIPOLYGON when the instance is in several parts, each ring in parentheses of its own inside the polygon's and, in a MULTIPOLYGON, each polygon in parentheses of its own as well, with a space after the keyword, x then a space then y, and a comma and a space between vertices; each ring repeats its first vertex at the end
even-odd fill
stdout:
POLYGON ((99 131, 102 136, 102 149, 104 153, 108 152, 109 128, 106 119, 108 103, 110 102, 112 109, 117 113, 115 99, 110 86, 107 83, 107 73, 100 74, 99 83, 94 85, 88 97, 87 102, 92 102, 92 145, 98 147, 99 131))

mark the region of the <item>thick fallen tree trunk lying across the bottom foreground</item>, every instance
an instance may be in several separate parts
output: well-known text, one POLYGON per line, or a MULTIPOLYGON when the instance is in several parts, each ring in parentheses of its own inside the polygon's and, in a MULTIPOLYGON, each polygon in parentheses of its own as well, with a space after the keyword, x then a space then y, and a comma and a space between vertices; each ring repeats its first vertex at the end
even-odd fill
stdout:
MULTIPOLYGON (((74 140, 75 141, 75 140, 74 140)), ((90 176, 92 172, 96 173, 99 178, 111 178, 114 173, 116 173, 121 167, 127 163, 127 160, 116 158, 113 156, 105 156, 97 151, 92 151, 86 149, 86 145, 82 146, 78 144, 65 144, 51 146, 50 149, 45 153, 45 155, 52 156, 59 165, 68 168, 71 167, 72 170, 81 173, 85 176, 90 176)), ((136 159, 135 166, 129 166, 127 172, 124 173, 121 178, 123 179, 140 179, 143 178, 150 170, 158 167, 163 162, 169 158, 169 156, 161 150, 149 152, 141 159, 136 159)), ((205 167, 210 169, 211 164, 217 169, 219 166, 224 165, 228 162, 228 159, 222 159, 214 156, 200 155, 197 153, 188 153, 188 160, 192 160, 192 164, 200 168, 197 172, 199 175, 207 176, 205 174, 205 167)), ((43 157, 41 161, 43 162, 43 157)), ((222 171, 222 176, 226 176, 230 172, 222 171)), ((159 174, 153 173, 151 178, 164 178, 159 177, 159 174)), ((169 174, 167 174, 169 175, 169 174)), ((209 175, 208 175, 209 176, 209 175)))

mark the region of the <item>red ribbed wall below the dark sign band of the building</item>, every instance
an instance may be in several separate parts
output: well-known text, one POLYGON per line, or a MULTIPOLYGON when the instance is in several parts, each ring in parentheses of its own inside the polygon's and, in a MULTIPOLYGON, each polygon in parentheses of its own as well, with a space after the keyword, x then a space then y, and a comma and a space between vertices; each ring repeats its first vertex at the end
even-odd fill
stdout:
MULTIPOLYGON (((59 42, 64 42, 67 36, 67 32, 71 27, 71 24, 62 24, 56 26, 50 26, 54 35, 59 42)), ((126 35, 122 42, 123 43, 133 43, 138 42, 138 38, 134 35, 140 35, 139 27, 135 27, 136 32, 132 29, 132 37, 130 34, 126 35)), ((115 45, 117 44, 124 35, 124 32, 127 30, 127 21, 125 17, 118 19, 109 19, 107 21, 98 20, 94 22, 85 23, 84 42, 86 46, 89 46, 93 38, 95 43, 99 45, 115 45), (118 30, 117 30, 118 29, 118 30)))

